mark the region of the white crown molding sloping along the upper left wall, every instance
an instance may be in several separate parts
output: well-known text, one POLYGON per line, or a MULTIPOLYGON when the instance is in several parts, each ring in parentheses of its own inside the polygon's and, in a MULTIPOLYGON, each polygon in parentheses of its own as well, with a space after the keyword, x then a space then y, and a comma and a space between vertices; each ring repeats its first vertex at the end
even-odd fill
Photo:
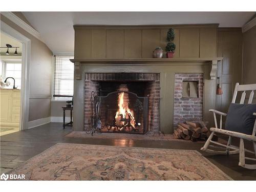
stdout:
POLYGON ((1 14, 4 15, 5 17, 7 17, 9 20, 11 20, 14 24, 19 26, 20 28, 24 29, 25 31, 27 31, 28 33, 30 33, 31 35, 33 35, 34 37, 36 37, 40 41, 44 42, 38 31, 36 31, 34 28, 32 28, 30 25, 28 25, 26 22, 24 22, 24 20, 22 20, 21 18, 16 16, 14 13, 12 13, 12 12, 1 12, 1 14))

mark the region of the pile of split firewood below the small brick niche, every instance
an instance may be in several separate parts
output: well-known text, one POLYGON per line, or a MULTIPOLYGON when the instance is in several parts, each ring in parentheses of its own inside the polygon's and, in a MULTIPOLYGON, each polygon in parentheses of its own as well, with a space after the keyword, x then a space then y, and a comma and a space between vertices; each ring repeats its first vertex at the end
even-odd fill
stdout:
MULTIPOLYGON (((191 141, 205 141, 210 136, 211 132, 206 127, 208 122, 191 122, 186 121, 178 123, 177 128, 174 130, 174 137, 176 139, 185 139, 191 141)), ((214 135, 216 140, 217 136, 214 135)))

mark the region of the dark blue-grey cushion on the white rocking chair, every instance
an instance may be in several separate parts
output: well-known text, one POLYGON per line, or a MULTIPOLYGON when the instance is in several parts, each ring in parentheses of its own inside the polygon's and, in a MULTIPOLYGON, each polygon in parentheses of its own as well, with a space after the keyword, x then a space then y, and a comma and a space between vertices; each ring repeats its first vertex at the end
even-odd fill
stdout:
POLYGON ((231 103, 228 108, 225 130, 252 135, 256 104, 231 103))

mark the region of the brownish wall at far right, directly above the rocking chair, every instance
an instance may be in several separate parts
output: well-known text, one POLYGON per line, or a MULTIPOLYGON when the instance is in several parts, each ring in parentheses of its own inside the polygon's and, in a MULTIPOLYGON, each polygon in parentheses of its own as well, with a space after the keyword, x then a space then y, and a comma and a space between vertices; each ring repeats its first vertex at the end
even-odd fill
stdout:
MULTIPOLYGON (((256 83, 256 26, 243 33, 243 84, 256 83)), ((248 94, 247 94, 248 95, 248 94)), ((253 102, 256 103, 254 93, 253 102)))

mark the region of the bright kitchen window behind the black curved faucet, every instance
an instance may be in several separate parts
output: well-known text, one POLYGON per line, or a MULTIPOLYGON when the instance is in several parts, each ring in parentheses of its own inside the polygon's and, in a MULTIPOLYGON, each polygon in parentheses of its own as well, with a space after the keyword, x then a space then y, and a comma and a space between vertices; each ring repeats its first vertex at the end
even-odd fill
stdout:
MULTIPOLYGON (((4 61, 3 62, 3 80, 5 80, 7 77, 13 77, 15 79, 15 87, 17 89, 21 88, 22 85, 22 63, 21 61, 4 61)), ((13 80, 8 79, 11 84, 9 88, 13 87, 13 80)))

